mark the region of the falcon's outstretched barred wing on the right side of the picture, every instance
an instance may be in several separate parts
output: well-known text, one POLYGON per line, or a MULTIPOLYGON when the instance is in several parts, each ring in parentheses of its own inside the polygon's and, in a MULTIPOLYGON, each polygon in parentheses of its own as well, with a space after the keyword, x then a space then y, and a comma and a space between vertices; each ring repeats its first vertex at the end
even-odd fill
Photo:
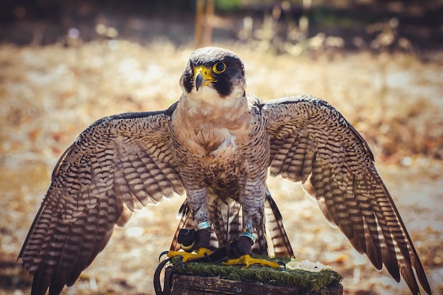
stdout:
POLYGON ((263 106, 270 134, 270 174, 282 175, 318 201, 330 224, 367 255, 377 270, 405 280, 420 294, 429 283, 396 205, 374 166, 369 146, 345 118, 311 96, 280 98, 263 106))

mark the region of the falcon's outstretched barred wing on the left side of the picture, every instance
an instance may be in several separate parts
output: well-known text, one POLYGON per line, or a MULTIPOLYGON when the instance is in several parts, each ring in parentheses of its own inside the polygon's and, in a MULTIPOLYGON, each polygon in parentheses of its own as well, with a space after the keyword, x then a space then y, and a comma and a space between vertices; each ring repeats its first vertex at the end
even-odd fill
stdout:
POLYGON ((105 117, 60 158, 18 258, 33 278, 32 294, 59 294, 105 248, 115 225, 135 209, 183 193, 162 112, 105 117))

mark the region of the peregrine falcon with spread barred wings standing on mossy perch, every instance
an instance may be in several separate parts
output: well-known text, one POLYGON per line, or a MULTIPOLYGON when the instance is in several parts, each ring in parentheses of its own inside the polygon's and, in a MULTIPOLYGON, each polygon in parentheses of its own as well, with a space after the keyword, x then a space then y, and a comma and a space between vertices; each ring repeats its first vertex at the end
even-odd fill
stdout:
MULTIPOLYGON (((403 277, 412 294, 418 279, 431 294, 369 146, 338 110, 312 96, 265 102, 246 93, 241 59, 218 47, 190 55, 180 86, 168 110, 98 120, 60 158, 18 256, 33 275, 32 294, 74 284, 116 225, 176 194, 186 195, 178 230, 195 229, 186 259, 234 243, 248 263, 249 254, 267 253, 265 225, 275 253, 292 255, 268 168, 301 182, 377 270, 403 277)), ((186 253, 177 236, 168 255, 186 253)))

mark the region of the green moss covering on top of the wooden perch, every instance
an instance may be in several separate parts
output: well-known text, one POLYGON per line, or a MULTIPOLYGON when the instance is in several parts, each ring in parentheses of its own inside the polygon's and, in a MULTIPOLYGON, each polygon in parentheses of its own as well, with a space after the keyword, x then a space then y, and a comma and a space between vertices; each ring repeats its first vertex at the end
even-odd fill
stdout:
MULTIPOLYGON (((258 256, 254 257, 258 258, 258 256)), ((247 282, 263 286, 287 287, 289 289, 299 290, 299 293, 294 292, 287 294, 317 294, 316 292, 313 293, 313 291, 318 290, 321 290, 321 294, 328 294, 325 293, 324 290, 328 288, 337 289, 334 287, 340 287, 340 291, 335 291, 329 294, 342 294, 341 292, 343 292, 340 285, 343 277, 335 272, 332 267, 323 265, 320 262, 309 262, 307 260, 301 261, 295 258, 270 258, 268 256, 260 256, 259 258, 271 261, 282 261, 286 264, 286 269, 283 267, 280 267, 280 269, 273 269, 260 266, 243 268, 237 266, 214 265, 213 263, 204 262, 188 262, 185 263, 183 267, 180 265, 180 260, 178 258, 173 259, 171 262, 174 266, 178 265, 175 270, 173 270, 174 274, 192 277, 211 277, 234 282, 247 282)), ((202 279, 200 280, 200 284, 207 283, 202 279)), ((238 294, 238 292, 207 293, 209 291, 208 288, 205 290, 206 294, 238 294)), ((249 294, 244 291, 240 293, 249 294)))

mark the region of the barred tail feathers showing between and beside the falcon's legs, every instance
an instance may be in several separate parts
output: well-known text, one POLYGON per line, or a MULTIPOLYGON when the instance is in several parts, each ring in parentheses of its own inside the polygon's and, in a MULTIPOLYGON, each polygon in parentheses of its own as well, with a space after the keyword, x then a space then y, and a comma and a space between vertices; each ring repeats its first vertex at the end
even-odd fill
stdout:
MULTIPOLYGON (((209 190, 209 216, 213 230, 210 243, 212 250, 226 246, 229 241, 237 238, 243 231, 241 205, 229 198, 226 204, 222 199, 226 198, 218 198, 213 190, 209 190)), ((195 227, 186 200, 180 207, 178 217, 180 218, 180 222, 171 243, 171 250, 175 251, 180 249, 180 244, 177 242, 180 229, 193 229, 195 227)), ((267 190, 267 187, 265 199, 265 228, 267 233, 269 233, 273 254, 275 256, 294 256, 289 238, 284 230, 282 215, 274 199, 272 199, 269 190, 267 190)), ((254 236, 257 243, 253 245, 253 253, 267 255, 269 251, 266 236, 264 234, 259 235, 257 231, 255 231, 254 236)))

